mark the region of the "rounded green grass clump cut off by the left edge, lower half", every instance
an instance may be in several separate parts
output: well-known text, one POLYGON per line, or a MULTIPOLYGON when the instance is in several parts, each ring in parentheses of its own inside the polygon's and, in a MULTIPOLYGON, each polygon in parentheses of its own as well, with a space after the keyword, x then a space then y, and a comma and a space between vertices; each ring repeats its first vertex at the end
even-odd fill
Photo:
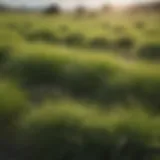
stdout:
POLYGON ((0 140, 8 139, 14 133, 26 105, 26 96, 19 87, 8 81, 0 81, 0 140))

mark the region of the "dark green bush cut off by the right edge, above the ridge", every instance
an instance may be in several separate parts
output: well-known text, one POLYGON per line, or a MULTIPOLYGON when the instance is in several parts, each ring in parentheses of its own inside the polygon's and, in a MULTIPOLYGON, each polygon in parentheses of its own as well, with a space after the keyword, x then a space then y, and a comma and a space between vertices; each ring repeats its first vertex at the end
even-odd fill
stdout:
POLYGON ((160 60, 160 45, 148 44, 139 49, 139 56, 144 59, 160 60))

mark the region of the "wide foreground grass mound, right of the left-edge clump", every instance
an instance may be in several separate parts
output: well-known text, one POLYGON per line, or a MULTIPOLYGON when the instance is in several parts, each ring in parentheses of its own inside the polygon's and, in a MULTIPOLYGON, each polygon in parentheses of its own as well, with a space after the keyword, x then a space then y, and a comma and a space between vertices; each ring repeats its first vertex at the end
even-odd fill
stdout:
POLYGON ((22 119, 22 159, 142 160, 158 140, 157 122, 138 110, 107 114, 68 101, 47 104, 22 119))

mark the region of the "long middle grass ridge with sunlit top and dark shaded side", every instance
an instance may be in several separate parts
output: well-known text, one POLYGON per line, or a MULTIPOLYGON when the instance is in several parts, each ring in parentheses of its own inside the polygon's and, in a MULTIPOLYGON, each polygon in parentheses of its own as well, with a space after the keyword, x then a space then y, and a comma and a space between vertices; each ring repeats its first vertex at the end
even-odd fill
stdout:
POLYGON ((108 103, 138 99, 153 108, 159 106, 159 65, 52 47, 23 45, 13 53, 8 72, 27 86, 58 87, 73 96, 108 103))

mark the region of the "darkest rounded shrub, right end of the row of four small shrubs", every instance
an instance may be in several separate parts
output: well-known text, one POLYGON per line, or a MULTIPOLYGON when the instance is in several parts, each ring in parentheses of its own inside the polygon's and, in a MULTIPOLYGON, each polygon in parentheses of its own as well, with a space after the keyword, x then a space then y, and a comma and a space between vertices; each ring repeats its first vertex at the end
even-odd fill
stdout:
POLYGON ((114 42, 113 47, 118 50, 129 50, 134 48, 134 45, 134 41, 131 38, 122 37, 114 42))

